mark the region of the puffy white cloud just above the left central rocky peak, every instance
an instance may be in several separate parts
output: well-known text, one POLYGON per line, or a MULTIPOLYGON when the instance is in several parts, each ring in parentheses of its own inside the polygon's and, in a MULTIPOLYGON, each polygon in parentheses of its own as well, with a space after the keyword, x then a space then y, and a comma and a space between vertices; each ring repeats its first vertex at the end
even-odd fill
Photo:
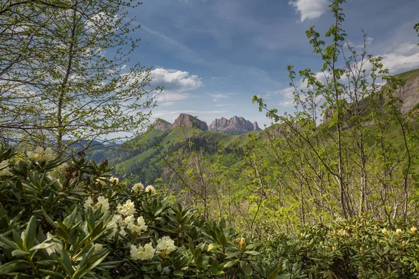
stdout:
POLYGON ((198 75, 190 75, 189 72, 182 70, 171 70, 156 68, 152 70, 152 86, 162 86, 163 92, 156 95, 157 101, 162 105, 170 105, 178 100, 191 97, 189 91, 198 89, 203 85, 198 75))

